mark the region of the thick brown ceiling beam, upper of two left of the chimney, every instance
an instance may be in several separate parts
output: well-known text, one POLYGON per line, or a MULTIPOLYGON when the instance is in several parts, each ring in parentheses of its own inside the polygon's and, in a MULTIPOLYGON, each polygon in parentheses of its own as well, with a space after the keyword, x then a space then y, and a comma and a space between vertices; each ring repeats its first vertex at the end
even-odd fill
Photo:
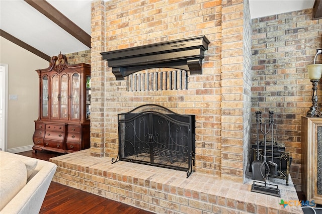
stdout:
POLYGON ((56 8, 50 5, 45 0, 24 0, 37 11, 45 15, 48 19, 67 31, 73 37, 81 41, 84 45, 91 48, 91 36, 86 33, 82 28, 79 28, 75 23, 70 21, 56 8))

